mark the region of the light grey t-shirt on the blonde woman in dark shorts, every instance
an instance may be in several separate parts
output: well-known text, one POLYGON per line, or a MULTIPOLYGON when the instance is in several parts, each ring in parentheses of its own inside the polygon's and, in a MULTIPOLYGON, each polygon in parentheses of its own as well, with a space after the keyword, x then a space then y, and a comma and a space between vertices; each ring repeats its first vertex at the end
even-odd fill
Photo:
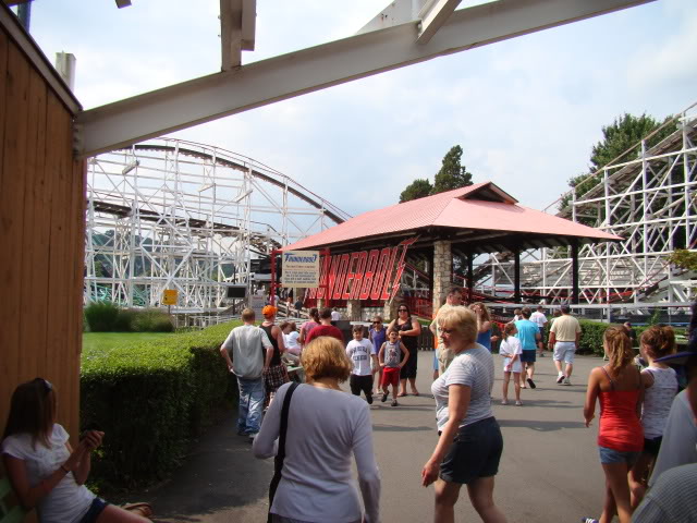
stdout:
POLYGON ((448 387, 466 385, 472 389, 467 415, 461 427, 493 416, 491 412, 491 388, 493 387, 493 356, 479 343, 455 356, 453 362, 431 385, 436 398, 436 419, 438 429, 448 423, 448 387))

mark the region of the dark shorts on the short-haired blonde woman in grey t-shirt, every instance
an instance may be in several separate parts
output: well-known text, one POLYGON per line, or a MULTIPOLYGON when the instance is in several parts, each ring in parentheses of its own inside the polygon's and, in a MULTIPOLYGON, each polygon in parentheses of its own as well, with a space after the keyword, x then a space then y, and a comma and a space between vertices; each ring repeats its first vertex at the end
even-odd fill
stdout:
POLYGON ((444 482, 467 484, 496 476, 503 452, 503 436, 496 417, 461 427, 440 465, 444 482))

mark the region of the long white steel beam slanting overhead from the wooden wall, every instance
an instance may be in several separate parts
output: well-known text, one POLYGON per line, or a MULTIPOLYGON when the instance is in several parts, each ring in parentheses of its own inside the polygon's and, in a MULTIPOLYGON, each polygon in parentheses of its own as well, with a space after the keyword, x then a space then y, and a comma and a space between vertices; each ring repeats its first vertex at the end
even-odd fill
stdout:
POLYGON ((655 0, 508 0, 455 11, 425 46, 417 22, 254 62, 84 111, 82 157, 436 57, 655 0))

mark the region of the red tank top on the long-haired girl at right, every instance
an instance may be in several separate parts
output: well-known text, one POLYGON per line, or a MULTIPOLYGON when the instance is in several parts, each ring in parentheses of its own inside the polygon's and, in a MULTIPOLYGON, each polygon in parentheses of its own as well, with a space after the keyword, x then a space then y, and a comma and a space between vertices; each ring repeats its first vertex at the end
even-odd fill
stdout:
MULTIPOLYGON (((610 379, 611 390, 600 391, 600 429, 598 445, 620 452, 640 452, 644 450, 644 428, 636 414, 639 401, 639 387, 634 390, 614 390, 614 381, 610 379)), ((640 378, 639 378, 640 379, 640 378)))

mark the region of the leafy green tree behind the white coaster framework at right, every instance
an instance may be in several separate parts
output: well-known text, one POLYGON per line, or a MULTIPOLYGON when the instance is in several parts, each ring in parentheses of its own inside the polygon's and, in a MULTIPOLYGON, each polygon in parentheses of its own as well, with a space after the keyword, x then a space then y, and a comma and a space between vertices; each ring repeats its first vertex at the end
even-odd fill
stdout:
MULTIPOLYGON (((576 188, 576 195, 582 196, 602 180, 601 169, 611 161, 622 163, 639 157, 641 139, 659 129, 673 117, 667 117, 662 122, 646 113, 640 117, 624 113, 615 118, 612 124, 602 127, 602 139, 591 149, 588 172, 573 177, 568 185, 576 188)), ((650 148, 675 131, 675 124, 665 125, 658 133, 647 139, 646 147, 650 148)), ((563 209, 568 205, 571 195, 562 197, 559 205, 563 209)))

